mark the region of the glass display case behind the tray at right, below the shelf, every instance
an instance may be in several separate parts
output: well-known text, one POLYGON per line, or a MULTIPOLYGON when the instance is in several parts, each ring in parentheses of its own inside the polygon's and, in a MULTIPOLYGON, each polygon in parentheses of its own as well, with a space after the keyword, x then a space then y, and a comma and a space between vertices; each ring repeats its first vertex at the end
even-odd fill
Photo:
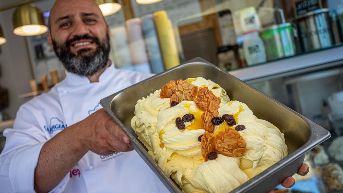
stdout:
MULTIPOLYGON (((298 60, 301 63, 301 60, 298 60)), ((247 83, 304 115, 331 133, 331 138, 311 150, 305 162, 306 177, 297 175, 293 191, 343 191, 343 60, 277 73, 247 83)), ((301 129, 301 128, 299 128, 301 129)), ((279 187, 282 189, 282 187, 279 187)), ((281 192, 281 190, 280 190, 281 192)))

